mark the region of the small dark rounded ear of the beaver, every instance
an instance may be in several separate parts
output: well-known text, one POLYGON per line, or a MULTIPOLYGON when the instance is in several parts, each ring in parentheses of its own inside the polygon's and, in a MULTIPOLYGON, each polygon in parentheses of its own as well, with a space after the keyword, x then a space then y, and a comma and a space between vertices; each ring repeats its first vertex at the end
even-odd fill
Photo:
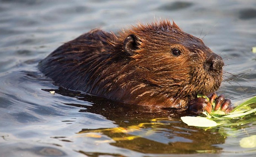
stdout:
POLYGON ((132 56, 135 54, 135 51, 138 49, 139 46, 139 38, 134 35, 130 34, 124 39, 123 49, 128 56, 132 56))

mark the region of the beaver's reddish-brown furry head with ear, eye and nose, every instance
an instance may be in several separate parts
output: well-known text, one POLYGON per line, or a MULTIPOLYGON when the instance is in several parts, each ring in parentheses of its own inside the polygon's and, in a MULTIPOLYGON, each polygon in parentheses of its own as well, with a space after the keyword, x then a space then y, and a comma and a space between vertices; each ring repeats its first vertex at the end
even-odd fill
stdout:
POLYGON ((139 24, 115 36, 112 45, 112 51, 121 51, 115 54, 131 58, 123 67, 130 86, 126 94, 132 95, 126 103, 182 108, 221 84, 222 58, 174 22, 139 24))

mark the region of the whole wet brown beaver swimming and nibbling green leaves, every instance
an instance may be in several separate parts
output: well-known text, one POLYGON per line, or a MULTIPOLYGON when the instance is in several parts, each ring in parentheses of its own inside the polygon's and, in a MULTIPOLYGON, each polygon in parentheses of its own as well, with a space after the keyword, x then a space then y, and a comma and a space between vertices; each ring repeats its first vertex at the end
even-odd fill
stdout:
MULTIPOLYGON (((93 29, 64 43, 38 64, 55 84, 70 90, 152 109, 211 112, 197 94, 222 82, 222 58, 198 37, 169 20, 138 24, 118 33, 93 29)), ((212 101, 216 94, 212 96, 212 101)), ((231 111, 224 96, 217 102, 231 111)))

